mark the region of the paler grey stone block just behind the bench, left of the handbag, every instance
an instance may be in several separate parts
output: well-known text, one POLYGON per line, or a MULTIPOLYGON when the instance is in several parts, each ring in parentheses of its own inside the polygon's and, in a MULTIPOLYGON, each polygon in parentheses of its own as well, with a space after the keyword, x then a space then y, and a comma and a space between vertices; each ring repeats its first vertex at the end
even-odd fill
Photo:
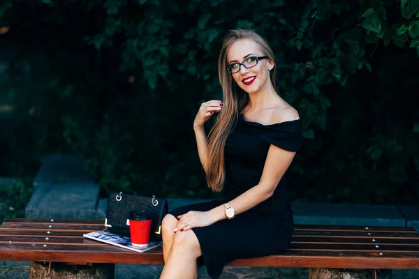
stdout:
POLYGON ((94 219, 100 186, 93 183, 39 183, 26 218, 94 219))

